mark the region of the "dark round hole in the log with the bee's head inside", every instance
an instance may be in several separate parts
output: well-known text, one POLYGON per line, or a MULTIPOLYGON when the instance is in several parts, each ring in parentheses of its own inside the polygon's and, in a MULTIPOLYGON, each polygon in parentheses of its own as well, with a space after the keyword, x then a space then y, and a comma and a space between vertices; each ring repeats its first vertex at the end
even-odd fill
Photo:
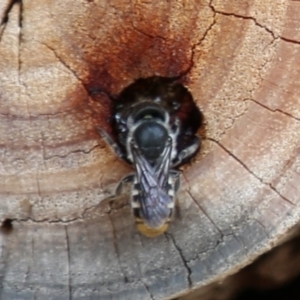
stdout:
MULTIPOLYGON (((177 153, 191 149, 191 152, 188 152, 189 154, 182 159, 180 164, 189 162, 199 150, 193 150, 192 147, 196 147, 197 132, 203 125, 204 117, 192 94, 180 83, 178 77, 152 76, 136 80, 115 99, 113 111, 115 116, 118 116, 112 124, 113 131, 116 140, 119 140, 122 147, 126 147, 128 132, 135 128, 131 124, 131 119, 134 124, 137 124, 139 120, 152 116, 154 122, 155 119, 166 122, 169 129, 176 134, 177 153), (127 130, 119 131, 120 126, 124 126, 124 124, 125 126, 128 124, 127 130)), ((204 131, 202 129, 200 136, 205 136, 204 131)), ((145 131, 143 130, 143 132, 145 131)), ((136 131, 136 134, 141 135, 142 133, 136 131)), ((151 139, 148 140, 150 143, 152 142, 151 139)))

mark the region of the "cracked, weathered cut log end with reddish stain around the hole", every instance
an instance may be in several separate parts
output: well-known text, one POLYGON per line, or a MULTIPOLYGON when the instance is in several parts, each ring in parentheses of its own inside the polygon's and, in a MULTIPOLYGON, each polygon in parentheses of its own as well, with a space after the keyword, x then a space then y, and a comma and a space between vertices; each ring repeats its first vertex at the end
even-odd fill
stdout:
POLYGON ((299 13, 287 0, 3 1, 0 298, 170 299, 274 246, 300 219, 299 13), (126 195, 103 202, 131 169, 95 128, 109 130, 109 96, 152 75, 182 75, 206 126, 181 218, 148 239, 126 195))

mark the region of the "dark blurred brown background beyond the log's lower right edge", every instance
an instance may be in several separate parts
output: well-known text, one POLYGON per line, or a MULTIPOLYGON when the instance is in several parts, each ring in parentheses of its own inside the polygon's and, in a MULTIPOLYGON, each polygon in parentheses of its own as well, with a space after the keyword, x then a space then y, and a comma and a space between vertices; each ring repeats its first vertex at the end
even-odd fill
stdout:
POLYGON ((298 299, 299 233, 299 225, 296 225, 287 235, 287 241, 261 255, 249 266, 228 276, 225 280, 193 290, 176 300, 243 300, 245 297, 247 299, 272 299, 274 294, 278 299, 283 297, 298 299), (254 291, 258 295, 250 296, 249 292, 254 291))

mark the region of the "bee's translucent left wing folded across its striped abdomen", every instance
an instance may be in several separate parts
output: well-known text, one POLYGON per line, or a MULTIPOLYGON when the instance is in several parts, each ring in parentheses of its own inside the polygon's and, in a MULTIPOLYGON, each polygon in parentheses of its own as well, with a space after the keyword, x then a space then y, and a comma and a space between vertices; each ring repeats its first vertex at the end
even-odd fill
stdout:
POLYGON ((172 199, 159 184, 157 170, 144 156, 132 146, 137 181, 139 183, 139 202, 141 215, 150 228, 159 228, 170 216, 169 203, 172 199))

